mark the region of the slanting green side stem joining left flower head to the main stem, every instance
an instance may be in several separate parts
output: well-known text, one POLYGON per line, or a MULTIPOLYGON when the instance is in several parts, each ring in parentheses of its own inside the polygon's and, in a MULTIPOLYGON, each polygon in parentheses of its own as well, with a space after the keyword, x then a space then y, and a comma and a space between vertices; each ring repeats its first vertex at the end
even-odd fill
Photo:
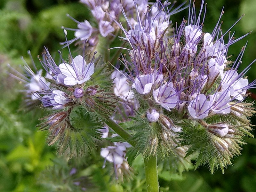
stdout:
POLYGON ((136 145, 134 141, 130 140, 132 136, 127 131, 125 131, 123 127, 121 127, 119 124, 116 124, 116 122, 114 122, 112 119, 107 119, 105 123, 132 146, 136 145))

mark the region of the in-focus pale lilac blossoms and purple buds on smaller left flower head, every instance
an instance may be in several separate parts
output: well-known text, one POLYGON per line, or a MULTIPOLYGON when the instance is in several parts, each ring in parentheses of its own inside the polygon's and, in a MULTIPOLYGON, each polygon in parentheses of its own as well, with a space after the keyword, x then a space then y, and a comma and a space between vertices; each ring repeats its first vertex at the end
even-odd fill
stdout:
MULTIPOLYGON (((84 96, 85 82, 91 79, 94 73, 94 63, 86 63, 81 55, 75 58, 70 58, 70 62, 67 63, 63 60, 59 66, 52 60, 48 50, 44 55, 44 61, 41 60, 42 66, 47 71, 47 76, 54 84, 58 86, 67 87, 67 90, 72 91, 71 94, 67 94, 62 90, 55 88, 45 90, 44 92, 37 93, 39 99, 42 101, 43 107, 52 107, 52 109, 62 109, 68 105, 68 103, 74 102, 73 99, 80 99, 84 96)), ((95 88, 95 90, 97 90, 95 88)), ((88 90, 87 90, 88 91, 88 90)), ((93 95, 93 92, 90 92, 93 95)), ((88 93, 89 94, 89 93, 88 93)))

